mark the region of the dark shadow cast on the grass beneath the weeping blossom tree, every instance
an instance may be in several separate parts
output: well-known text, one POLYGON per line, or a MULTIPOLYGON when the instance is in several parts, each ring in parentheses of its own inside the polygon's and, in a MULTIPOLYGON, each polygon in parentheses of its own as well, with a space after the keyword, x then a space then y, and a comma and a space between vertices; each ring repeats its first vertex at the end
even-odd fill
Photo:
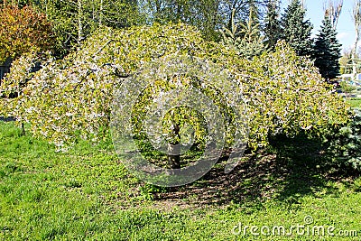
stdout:
POLYGON ((295 138, 273 138, 270 150, 245 155, 236 169, 224 172, 225 162, 218 163, 201 180, 184 187, 155 192, 154 200, 171 201, 190 206, 260 204, 277 199, 290 205, 299 203, 305 195, 313 195, 327 188, 329 180, 345 173, 327 165, 321 142, 307 139, 303 134, 295 138))

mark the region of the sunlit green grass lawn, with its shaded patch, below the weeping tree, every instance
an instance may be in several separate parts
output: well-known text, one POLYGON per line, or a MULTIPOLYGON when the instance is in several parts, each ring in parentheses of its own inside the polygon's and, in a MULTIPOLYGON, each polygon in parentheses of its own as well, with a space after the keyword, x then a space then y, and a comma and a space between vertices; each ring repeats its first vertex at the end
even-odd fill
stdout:
POLYGON ((319 165, 312 144, 284 142, 230 174, 219 163, 199 181, 165 189, 134 178, 108 144, 57 153, 20 134, 0 122, 0 240, 361 238, 361 179, 319 165), (292 235, 278 235, 281 226, 292 235))

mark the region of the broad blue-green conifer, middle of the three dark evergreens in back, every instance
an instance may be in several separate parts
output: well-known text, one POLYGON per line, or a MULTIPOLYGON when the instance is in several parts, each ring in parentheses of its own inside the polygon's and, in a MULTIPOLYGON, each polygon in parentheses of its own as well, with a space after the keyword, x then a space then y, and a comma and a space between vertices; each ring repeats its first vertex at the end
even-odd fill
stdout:
POLYGON ((284 14, 282 14, 282 39, 290 44, 298 55, 306 56, 312 53, 310 32, 312 24, 305 20, 306 11, 300 0, 292 0, 284 14))

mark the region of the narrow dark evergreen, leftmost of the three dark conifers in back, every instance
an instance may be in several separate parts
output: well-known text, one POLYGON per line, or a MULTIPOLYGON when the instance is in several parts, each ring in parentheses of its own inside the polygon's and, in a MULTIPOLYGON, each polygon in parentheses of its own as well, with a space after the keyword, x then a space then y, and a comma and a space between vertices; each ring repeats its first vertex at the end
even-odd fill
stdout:
POLYGON ((278 40, 281 39, 281 21, 279 19, 280 0, 270 0, 267 5, 267 14, 264 19, 264 39, 270 50, 274 47, 278 40))

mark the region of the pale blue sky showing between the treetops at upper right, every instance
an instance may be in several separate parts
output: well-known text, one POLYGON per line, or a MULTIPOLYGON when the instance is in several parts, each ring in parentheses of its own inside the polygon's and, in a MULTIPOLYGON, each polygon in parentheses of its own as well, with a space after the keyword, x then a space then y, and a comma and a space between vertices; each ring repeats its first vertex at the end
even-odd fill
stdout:
MULTIPOLYGON (((306 17, 313 24, 312 37, 319 32, 322 19, 324 17, 324 5, 326 0, 304 0, 306 7, 306 17)), ((342 44, 342 49, 348 50, 355 41, 355 26, 351 17, 354 0, 344 0, 342 12, 338 19, 338 41, 342 44)), ((289 0, 282 0, 282 8, 289 4, 289 0)))

